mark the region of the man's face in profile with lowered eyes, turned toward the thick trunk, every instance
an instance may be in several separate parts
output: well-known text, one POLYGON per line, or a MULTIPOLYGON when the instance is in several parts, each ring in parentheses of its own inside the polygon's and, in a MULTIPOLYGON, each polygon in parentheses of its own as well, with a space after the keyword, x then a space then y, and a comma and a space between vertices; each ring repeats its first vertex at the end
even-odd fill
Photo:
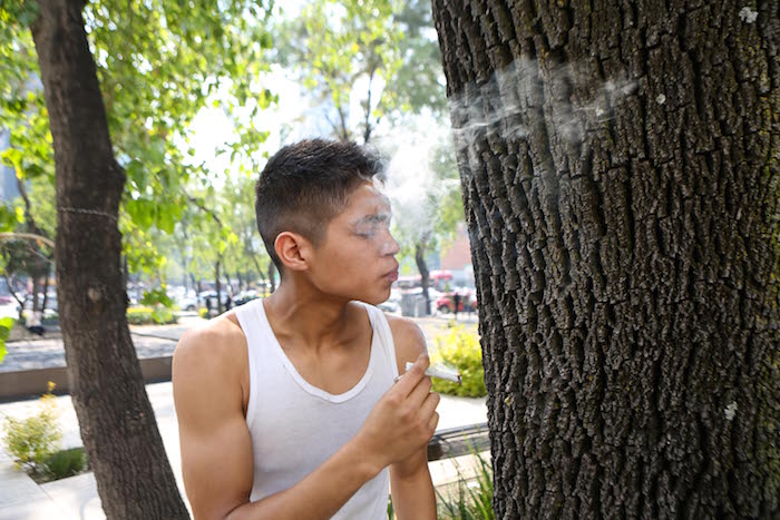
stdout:
POLYGON ((398 279, 399 247, 390 234, 390 202, 371 183, 358 187, 314 248, 310 276, 323 293, 379 304, 398 279))

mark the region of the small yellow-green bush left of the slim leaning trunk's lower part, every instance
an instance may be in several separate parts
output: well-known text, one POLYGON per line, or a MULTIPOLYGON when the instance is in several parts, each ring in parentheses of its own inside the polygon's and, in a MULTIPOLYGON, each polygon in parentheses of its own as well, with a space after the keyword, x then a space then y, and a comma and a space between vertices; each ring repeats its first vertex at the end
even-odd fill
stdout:
POLYGON ((41 410, 27 419, 6 418, 4 443, 18 468, 40 472, 47 458, 57 450, 62 432, 57 423, 57 399, 51 393, 55 384, 40 398, 41 410))

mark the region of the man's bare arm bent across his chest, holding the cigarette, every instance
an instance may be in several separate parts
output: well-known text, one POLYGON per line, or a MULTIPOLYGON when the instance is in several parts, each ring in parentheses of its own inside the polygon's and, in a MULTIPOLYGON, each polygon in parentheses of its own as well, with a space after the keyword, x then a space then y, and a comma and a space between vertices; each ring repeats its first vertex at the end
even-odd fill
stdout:
POLYGON ((435 406, 425 385, 427 359, 421 357, 408 381, 380 400, 354 439, 298 484, 250 503, 252 443, 242 410, 241 370, 231 362, 242 352, 238 347, 245 355, 245 347, 225 346, 236 341, 225 335, 185 335, 174 355, 182 465, 196 519, 329 518, 382 468, 419 451, 432 435, 435 406), (220 346, 227 352, 233 347, 232 355, 220 355, 220 346), (401 435, 388 439, 389 431, 401 435))

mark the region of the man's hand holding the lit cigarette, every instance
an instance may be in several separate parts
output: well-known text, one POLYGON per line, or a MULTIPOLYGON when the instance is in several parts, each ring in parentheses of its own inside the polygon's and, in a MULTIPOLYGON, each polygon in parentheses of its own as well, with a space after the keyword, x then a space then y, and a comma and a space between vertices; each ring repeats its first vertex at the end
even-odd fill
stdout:
POLYGON ((377 403, 355 438, 377 471, 420 451, 436 432, 440 398, 431 393, 425 375, 429 364, 428 356, 420 355, 377 403))

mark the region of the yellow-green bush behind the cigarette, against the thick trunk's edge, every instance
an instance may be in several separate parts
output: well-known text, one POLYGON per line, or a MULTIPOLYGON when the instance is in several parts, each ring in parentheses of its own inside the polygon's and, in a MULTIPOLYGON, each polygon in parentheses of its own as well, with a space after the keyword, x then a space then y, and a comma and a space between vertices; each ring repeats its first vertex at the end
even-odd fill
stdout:
POLYGON ((461 384, 433 379, 433 390, 448 395, 461 398, 481 398, 487 395, 485 389, 485 369, 482 350, 477 334, 466 332, 464 326, 454 326, 449 333, 436 337, 437 349, 431 355, 431 364, 441 363, 458 372, 461 384))

